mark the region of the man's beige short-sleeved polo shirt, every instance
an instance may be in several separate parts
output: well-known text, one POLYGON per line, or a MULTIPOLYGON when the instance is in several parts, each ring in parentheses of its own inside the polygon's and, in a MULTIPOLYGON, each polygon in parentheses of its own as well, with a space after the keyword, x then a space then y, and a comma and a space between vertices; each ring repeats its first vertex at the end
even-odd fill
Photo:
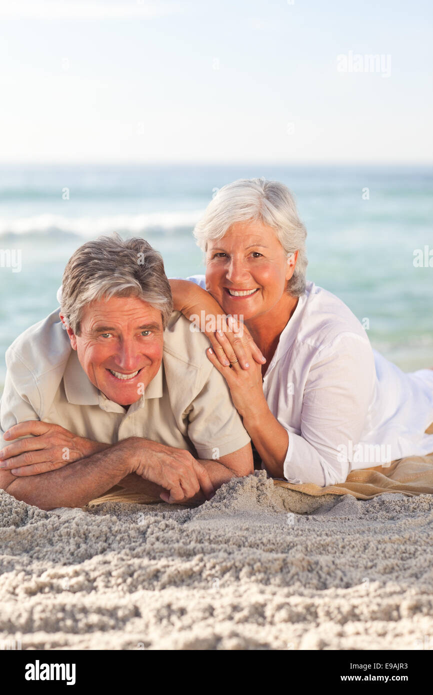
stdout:
POLYGON ((72 350, 58 313, 22 333, 6 351, 0 401, 3 433, 24 420, 56 423, 108 444, 140 436, 218 459, 249 441, 223 377, 206 357, 209 342, 172 314, 164 332, 163 361, 140 400, 123 407, 93 386, 72 350))

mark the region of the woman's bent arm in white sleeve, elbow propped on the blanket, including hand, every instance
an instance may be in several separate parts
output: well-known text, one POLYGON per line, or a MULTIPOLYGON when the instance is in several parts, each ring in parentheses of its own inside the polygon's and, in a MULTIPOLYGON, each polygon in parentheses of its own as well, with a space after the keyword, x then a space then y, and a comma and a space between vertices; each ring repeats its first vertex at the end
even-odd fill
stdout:
MULTIPOLYGON (((240 368, 234 362, 238 354, 234 334, 217 336, 231 368, 208 351, 209 359, 226 379, 268 473, 319 486, 344 482, 351 469, 349 452, 359 443, 370 404, 375 370, 370 344, 350 334, 339 336, 320 352, 302 394, 301 434, 295 434, 288 431, 290 414, 279 412, 279 421, 270 411, 259 365, 250 361, 249 369, 240 368)), ((243 349, 247 351, 246 344, 243 349)))

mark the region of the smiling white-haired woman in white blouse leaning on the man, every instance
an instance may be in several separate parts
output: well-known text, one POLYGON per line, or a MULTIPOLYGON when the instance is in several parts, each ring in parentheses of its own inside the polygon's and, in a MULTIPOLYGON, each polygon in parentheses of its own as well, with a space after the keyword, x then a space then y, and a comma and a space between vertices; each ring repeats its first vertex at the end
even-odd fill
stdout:
POLYGON ((224 186, 194 234, 206 276, 170 281, 174 308, 205 318, 209 359, 262 468, 326 486, 433 451, 433 371, 403 373, 372 349, 348 306, 306 281, 307 231, 286 186, 224 186), (227 327, 213 332, 222 314, 227 327))

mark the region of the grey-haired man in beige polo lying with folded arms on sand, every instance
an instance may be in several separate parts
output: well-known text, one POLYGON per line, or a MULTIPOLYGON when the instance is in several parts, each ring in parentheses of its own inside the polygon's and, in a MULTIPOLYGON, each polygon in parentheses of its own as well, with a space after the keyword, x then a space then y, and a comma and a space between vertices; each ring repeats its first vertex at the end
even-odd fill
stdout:
POLYGON ((81 507, 115 485, 179 503, 252 473, 250 437, 206 347, 172 312, 145 240, 83 244, 60 313, 6 352, 0 489, 42 509, 81 507))

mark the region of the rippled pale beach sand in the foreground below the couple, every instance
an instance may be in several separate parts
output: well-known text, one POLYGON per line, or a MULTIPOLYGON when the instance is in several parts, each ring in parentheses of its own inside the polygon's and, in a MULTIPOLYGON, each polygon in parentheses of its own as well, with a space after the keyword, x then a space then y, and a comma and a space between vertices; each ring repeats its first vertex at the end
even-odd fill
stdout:
POLYGON ((263 471, 200 507, 0 492, 0 644, 433 649, 433 496, 312 498, 263 471))

